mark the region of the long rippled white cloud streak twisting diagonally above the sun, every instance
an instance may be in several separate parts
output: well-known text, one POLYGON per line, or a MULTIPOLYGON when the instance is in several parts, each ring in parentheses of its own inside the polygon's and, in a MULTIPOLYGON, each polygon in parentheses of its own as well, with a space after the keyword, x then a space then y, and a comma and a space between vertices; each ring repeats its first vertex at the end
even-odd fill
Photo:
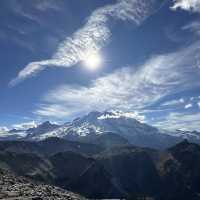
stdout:
POLYGON ((77 64, 83 59, 84 52, 99 51, 108 42, 111 35, 108 25, 110 18, 140 24, 151 14, 153 2, 154 0, 118 0, 116 4, 95 10, 81 29, 59 45, 51 59, 29 63, 15 79, 11 80, 10 86, 46 67, 71 67, 77 64))

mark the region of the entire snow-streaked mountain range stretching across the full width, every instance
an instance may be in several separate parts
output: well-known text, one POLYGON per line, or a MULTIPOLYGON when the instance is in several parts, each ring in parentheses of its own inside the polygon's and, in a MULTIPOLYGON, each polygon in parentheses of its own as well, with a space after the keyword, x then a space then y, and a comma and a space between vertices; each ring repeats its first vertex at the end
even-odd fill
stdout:
POLYGON ((44 122, 37 127, 25 131, 9 131, 3 137, 0 137, 0 139, 38 141, 49 137, 59 137, 90 143, 99 135, 107 133, 118 134, 134 145, 152 148, 166 148, 183 139, 200 143, 200 133, 196 131, 159 130, 153 126, 139 122, 130 113, 119 111, 95 111, 63 125, 44 122))

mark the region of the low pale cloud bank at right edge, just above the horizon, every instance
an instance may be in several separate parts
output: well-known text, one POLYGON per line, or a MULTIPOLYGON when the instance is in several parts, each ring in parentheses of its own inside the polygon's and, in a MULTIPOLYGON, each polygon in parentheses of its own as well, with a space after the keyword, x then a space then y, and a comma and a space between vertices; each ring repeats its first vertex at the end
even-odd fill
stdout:
POLYGON ((163 121, 154 125, 162 129, 200 131, 200 113, 184 114, 173 112, 166 116, 163 121))

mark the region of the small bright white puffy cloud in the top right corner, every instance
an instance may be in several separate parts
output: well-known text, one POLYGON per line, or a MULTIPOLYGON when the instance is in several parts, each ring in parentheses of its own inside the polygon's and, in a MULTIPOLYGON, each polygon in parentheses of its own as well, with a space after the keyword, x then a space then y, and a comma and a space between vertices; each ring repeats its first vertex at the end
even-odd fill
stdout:
POLYGON ((174 5, 171 7, 172 10, 181 8, 186 11, 200 12, 200 1, 199 0, 173 0, 174 5))

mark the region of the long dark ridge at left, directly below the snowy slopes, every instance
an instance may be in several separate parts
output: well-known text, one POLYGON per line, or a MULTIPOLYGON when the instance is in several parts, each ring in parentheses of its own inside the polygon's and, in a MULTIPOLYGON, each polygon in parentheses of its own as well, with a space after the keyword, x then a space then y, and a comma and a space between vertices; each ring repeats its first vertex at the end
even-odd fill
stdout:
POLYGON ((46 140, 39 142, 1 141, 0 150, 14 153, 35 153, 43 156, 53 155, 64 151, 93 155, 101 152, 103 147, 60 138, 47 138, 46 140))

